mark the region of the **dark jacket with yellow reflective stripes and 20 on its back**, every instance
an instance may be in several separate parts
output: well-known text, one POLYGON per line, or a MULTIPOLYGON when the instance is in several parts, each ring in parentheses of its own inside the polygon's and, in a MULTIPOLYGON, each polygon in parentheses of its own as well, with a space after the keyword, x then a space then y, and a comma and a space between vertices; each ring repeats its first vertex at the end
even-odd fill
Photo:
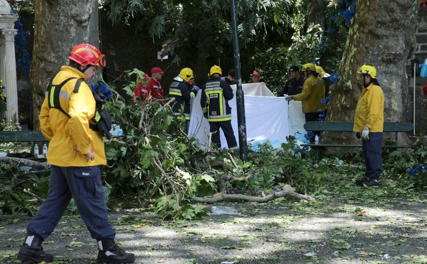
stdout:
POLYGON ((209 122, 220 122, 231 120, 231 107, 228 101, 234 96, 230 84, 220 79, 212 77, 202 89, 200 105, 203 113, 207 113, 209 122))

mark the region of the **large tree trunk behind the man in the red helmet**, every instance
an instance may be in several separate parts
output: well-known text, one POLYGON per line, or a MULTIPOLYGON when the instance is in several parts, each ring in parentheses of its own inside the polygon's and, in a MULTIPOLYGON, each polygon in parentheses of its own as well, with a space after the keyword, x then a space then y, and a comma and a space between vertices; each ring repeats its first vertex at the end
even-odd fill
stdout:
POLYGON ((99 46, 97 0, 35 0, 33 63, 34 130, 40 129, 39 113, 46 85, 77 44, 99 46))

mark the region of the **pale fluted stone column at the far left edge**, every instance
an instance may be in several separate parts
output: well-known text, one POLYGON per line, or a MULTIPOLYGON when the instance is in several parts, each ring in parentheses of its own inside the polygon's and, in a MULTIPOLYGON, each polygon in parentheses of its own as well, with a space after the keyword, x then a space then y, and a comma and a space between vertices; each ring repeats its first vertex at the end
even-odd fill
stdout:
POLYGON ((15 35, 17 34, 16 29, 6 28, 2 30, 2 35, 5 38, 4 47, 4 64, 5 79, 4 85, 6 87, 6 100, 7 100, 7 118, 8 125, 5 130, 11 130, 14 125, 19 126, 19 115, 18 115, 18 86, 16 83, 16 62, 15 62, 15 35))

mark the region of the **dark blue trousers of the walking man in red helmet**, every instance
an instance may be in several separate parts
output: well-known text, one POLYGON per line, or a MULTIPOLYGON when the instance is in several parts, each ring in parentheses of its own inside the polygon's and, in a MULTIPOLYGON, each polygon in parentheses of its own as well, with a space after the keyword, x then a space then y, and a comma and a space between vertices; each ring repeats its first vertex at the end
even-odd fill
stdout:
POLYGON ((45 240, 55 229, 71 197, 74 198, 81 219, 92 238, 114 239, 115 232, 108 221, 99 166, 52 166, 49 194, 37 216, 28 224, 28 234, 37 235, 45 240))

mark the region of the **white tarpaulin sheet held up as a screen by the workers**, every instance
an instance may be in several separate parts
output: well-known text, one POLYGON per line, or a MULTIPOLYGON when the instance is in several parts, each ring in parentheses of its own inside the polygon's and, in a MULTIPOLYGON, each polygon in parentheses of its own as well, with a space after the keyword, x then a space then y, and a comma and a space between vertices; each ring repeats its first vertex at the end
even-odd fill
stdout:
MULTIPOLYGON (((237 130, 237 107, 236 107, 236 86, 232 85, 234 97, 228 103, 231 107, 231 124, 239 144, 237 130)), ((245 116, 247 141, 279 141, 286 142, 289 134, 296 131, 305 134, 303 128, 305 122, 302 114, 301 102, 291 101, 290 104, 285 97, 276 97, 264 83, 247 83, 242 85, 245 98, 245 116), (288 114, 288 111, 289 114, 288 114), (288 118, 291 118, 289 121, 288 118)), ((189 136, 195 137, 202 146, 208 144, 209 122, 203 117, 200 107, 201 92, 197 93, 191 104, 191 118, 189 126, 189 136)), ((227 147, 227 141, 220 129, 222 148, 227 147)))

